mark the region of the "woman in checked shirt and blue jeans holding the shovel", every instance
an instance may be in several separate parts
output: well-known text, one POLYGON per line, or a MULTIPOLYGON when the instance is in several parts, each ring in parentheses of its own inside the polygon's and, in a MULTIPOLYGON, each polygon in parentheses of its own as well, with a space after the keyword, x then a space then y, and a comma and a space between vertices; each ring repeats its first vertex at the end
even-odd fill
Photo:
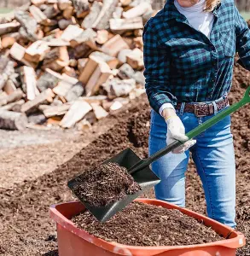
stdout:
MULTIPOLYGON (((234 56, 250 70, 250 32, 233 0, 167 0, 143 33, 151 113, 149 154, 227 108, 234 56)), ((235 227, 235 155, 230 117, 152 165, 157 199, 185 205, 192 154, 210 218, 235 227), (177 154, 178 153, 178 154, 177 154)))

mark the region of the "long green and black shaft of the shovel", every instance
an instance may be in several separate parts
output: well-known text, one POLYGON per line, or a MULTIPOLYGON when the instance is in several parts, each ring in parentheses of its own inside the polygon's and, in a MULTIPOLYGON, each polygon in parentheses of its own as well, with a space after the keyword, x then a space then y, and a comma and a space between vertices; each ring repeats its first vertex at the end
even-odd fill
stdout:
MULTIPOLYGON (((196 127, 194 130, 189 131, 186 134, 186 136, 189 137, 189 140, 194 137, 197 137, 203 131, 206 131, 208 128, 210 128, 212 125, 217 124, 220 120, 224 119, 226 116, 230 115, 231 113, 234 113, 236 110, 238 110, 239 108, 243 107, 244 105, 250 102, 249 94, 250 94, 250 86, 247 88, 245 95, 240 102, 236 102, 229 108, 225 108, 220 113, 213 116, 211 119, 206 120, 206 122, 196 127)), ((158 160, 161 156, 172 152, 173 149, 178 148, 179 146, 183 145, 183 143, 185 142, 176 141, 174 143, 171 143, 166 148, 162 148, 160 151, 156 152, 155 154, 152 154, 150 157, 148 157, 148 159, 139 161, 135 166, 131 167, 130 169, 131 173, 140 171, 146 166, 151 165, 155 160, 158 160)))

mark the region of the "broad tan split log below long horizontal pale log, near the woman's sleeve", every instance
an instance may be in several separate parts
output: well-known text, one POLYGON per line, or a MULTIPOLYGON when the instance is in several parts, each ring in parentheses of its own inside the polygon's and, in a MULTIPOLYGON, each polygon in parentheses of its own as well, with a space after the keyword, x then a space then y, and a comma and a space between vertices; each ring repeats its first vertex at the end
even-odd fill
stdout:
POLYGON ((109 39, 106 44, 103 44, 101 49, 102 52, 116 57, 119 54, 120 50, 129 49, 129 46, 125 43, 120 35, 116 35, 113 38, 109 39))

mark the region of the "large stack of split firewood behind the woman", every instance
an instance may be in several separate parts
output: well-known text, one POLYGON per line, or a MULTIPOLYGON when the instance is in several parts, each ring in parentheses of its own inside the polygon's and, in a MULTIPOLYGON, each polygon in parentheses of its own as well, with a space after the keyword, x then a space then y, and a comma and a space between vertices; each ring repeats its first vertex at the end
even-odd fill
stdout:
POLYGON ((0 128, 90 127, 144 93, 145 0, 32 0, 0 20, 0 128))

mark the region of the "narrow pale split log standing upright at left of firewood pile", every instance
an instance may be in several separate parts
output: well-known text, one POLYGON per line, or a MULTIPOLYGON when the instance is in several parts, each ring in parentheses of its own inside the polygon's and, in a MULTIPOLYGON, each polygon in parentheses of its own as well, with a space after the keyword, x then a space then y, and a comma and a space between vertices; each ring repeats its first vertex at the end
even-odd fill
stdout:
POLYGON ((32 101, 38 96, 37 76, 32 67, 22 67, 23 90, 26 93, 27 100, 32 101))

